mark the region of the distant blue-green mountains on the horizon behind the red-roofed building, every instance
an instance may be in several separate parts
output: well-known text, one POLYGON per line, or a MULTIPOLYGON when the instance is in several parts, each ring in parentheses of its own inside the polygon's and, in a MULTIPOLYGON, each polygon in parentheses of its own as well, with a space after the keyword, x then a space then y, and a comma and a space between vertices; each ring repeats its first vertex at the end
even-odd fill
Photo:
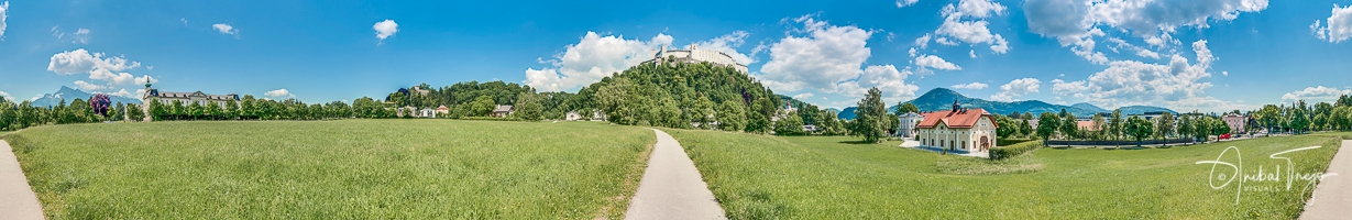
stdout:
MULTIPOLYGON (((999 113, 999 115, 1009 115, 1009 113, 1013 113, 1013 112, 1019 112, 1019 113, 1030 112, 1033 115, 1037 115, 1037 113, 1042 113, 1042 112, 1061 112, 1061 109, 1065 109, 1067 112, 1075 113, 1076 116, 1090 116, 1090 115, 1094 115, 1094 113, 1109 113, 1109 112, 1113 112, 1110 109, 1105 109, 1105 108, 1101 108, 1098 105, 1088 104, 1088 103, 1079 103, 1079 104, 1073 104, 1073 105, 1057 105, 1057 104, 1049 104, 1049 103, 1038 101, 1038 100, 1028 100, 1028 101, 990 101, 990 100, 967 97, 967 96, 963 96, 961 93, 957 93, 956 90, 945 89, 945 88, 930 89, 929 92, 925 92, 925 94, 922 94, 922 96, 919 96, 919 97, 917 97, 914 100, 906 101, 906 103, 915 104, 915 107, 919 108, 922 112, 929 112, 929 111, 950 109, 950 108, 953 108, 953 101, 955 100, 957 100, 957 103, 960 105, 963 105, 963 108, 982 108, 982 109, 986 109, 987 112, 999 113)), ((890 107, 888 112, 895 112, 898 108, 900 108, 900 105, 890 107)), ((1168 108, 1148 107, 1148 105, 1121 107, 1118 109, 1122 109, 1124 115, 1140 115, 1140 113, 1145 113, 1145 112, 1169 112, 1169 113, 1178 113, 1178 112, 1175 112, 1172 109, 1168 109, 1168 108)), ((849 108, 842 109, 838 116, 840 116, 840 119, 846 119, 846 120, 854 119, 854 107, 849 107, 849 108)))

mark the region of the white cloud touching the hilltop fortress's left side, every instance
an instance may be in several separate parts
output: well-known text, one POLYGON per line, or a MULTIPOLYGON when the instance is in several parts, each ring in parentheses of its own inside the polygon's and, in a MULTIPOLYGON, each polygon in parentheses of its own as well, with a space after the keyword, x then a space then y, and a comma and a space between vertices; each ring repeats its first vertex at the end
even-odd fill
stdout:
POLYGON ((569 45, 553 59, 539 59, 541 63, 549 63, 549 67, 526 69, 525 84, 541 92, 576 89, 652 59, 652 53, 658 46, 671 43, 672 36, 665 34, 657 34, 645 42, 588 31, 581 40, 569 45))

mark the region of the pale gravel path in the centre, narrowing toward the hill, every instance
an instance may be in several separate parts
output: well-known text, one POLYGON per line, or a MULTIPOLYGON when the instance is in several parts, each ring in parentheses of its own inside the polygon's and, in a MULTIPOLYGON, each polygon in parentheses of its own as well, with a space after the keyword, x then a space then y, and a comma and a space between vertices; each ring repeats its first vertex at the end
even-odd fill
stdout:
POLYGON ((625 219, 727 219, 695 162, 661 130, 625 219))

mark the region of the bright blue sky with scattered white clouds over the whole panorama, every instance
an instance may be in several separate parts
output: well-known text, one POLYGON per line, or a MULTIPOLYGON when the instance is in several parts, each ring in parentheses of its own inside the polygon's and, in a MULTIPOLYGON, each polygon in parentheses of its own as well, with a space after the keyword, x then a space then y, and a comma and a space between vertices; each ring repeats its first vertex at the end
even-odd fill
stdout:
POLYGON ((0 97, 59 86, 306 103, 416 84, 576 92, 660 46, 827 108, 934 88, 1103 108, 1352 93, 1352 0, 0 1, 0 97))

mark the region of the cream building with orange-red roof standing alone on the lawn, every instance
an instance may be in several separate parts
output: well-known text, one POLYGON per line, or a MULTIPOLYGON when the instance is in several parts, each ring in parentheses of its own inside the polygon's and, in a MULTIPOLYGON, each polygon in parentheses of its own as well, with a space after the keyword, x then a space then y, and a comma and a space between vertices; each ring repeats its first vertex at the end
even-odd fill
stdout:
POLYGON ((953 101, 953 109, 929 112, 917 124, 915 140, 921 146, 946 148, 950 151, 982 153, 995 147, 995 117, 982 108, 961 108, 953 101))

